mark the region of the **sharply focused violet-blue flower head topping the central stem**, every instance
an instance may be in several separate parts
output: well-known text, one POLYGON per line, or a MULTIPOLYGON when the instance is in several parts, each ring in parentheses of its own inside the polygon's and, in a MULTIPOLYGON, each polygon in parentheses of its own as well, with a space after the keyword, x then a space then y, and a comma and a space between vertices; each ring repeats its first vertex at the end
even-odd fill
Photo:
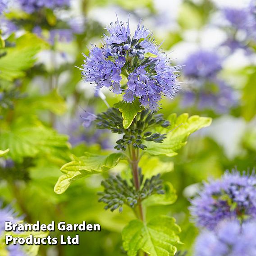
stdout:
POLYGON ((105 44, 92 46, 82 65, 85 82, 96 83, 96 89, 107 87, 123 100, 132 103, 137 97, 150 110, 157 110, 162 96, 169 98, 179 89, 178 67, 162 52, 149 29, 140 23, 131 36, 129 22, 117 20, 106 28, 105 44), (121 86, 122 78, 127 84, 121 86))

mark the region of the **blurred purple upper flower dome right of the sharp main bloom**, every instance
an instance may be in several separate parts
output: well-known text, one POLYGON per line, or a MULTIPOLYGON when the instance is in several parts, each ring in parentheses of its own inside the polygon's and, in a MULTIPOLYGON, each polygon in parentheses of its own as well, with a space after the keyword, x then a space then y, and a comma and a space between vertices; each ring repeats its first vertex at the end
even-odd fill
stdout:
POLYGON ((221 59, 215 51, 199 50, 187 57, 183 73, 189 78, 210 79, 215 78, 221 69, 221 59))

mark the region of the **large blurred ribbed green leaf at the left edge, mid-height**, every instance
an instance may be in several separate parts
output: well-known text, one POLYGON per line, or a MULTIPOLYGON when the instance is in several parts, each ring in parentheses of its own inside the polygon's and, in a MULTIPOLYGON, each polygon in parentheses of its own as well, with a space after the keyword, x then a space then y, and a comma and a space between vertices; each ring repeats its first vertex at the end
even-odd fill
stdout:
POLYGON ((9 148, 9 156, 15 161, 38 154, 51 160, 63 159, 69 149, 68 137, 45 127, 36 116, 20 116, 0 132, 0 148, 9 148))

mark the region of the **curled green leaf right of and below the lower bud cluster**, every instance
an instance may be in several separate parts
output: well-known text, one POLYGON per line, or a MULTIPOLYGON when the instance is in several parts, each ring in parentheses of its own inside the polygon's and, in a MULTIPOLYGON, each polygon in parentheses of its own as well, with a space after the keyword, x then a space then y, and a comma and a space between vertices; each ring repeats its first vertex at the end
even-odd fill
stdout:
POLYGON ((177 200, 176 190, 172 183, 164 183, 165 194, 154 194, 143 201, 143 206, 171 205, 177 200))

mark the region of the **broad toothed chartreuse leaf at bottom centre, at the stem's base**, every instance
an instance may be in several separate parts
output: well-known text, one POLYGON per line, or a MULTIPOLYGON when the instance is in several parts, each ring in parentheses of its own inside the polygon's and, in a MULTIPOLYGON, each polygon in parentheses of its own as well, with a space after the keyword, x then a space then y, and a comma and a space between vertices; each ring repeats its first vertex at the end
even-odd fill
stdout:
POLYGON ((175 219, 169 216, 158 216, 147 224, 132 220, 122 232, 123 248, 128 256, 137 256, 139 250, 150 256, 174 256, 180 232, 175 219))

